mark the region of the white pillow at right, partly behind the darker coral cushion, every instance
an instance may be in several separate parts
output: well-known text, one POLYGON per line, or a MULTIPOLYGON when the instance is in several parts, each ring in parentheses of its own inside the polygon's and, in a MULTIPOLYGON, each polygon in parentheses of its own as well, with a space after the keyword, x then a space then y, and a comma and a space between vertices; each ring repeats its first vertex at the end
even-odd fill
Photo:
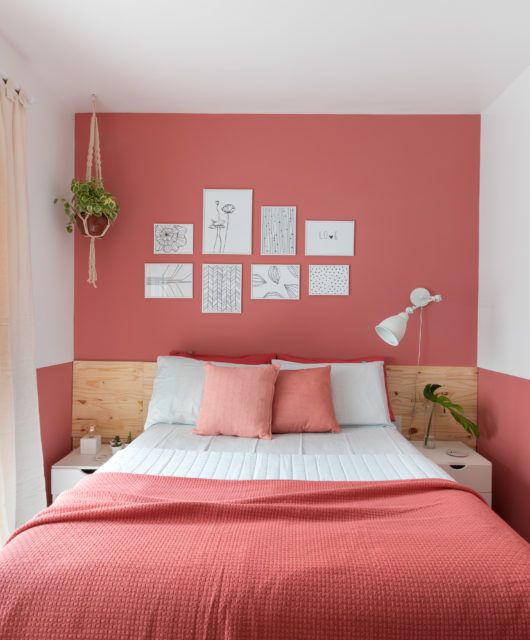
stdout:
POLYGON ((341 425, 389 424, 384 362, 307 364, 273 360, 282 369, 331 366, 331 396, 341 425))

